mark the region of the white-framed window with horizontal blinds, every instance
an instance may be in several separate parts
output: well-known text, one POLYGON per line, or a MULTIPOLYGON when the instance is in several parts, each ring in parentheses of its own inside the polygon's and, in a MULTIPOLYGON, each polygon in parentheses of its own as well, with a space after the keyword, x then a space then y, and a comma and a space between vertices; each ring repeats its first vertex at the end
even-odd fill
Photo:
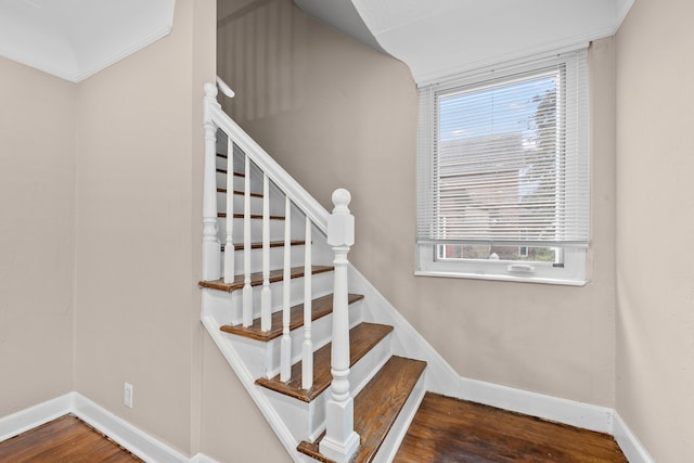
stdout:
POLYGON ((416 274, 586 282, 584 50, 420 88, 416 274))

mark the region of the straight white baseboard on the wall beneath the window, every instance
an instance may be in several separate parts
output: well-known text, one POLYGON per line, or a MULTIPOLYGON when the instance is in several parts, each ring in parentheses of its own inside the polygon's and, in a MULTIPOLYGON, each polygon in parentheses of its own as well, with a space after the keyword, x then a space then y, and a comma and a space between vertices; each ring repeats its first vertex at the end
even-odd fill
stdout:
POLYGON ((459 397, 513 412, 612 434, 613 409, 461 377, 459 397))

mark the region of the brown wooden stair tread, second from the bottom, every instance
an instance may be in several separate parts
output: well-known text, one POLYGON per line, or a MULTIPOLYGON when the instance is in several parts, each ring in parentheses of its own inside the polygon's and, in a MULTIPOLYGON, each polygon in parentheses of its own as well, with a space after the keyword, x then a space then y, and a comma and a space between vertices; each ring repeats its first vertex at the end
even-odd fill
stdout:
MULTIPOLYGON (((349 330, 349 365, 357 363, 391 331, 393 326, 367 322, 349 330)), ((304 402, 310 402, 327 389, 333 381, 331 351, 332 344, 327 344, 313 353, 313 386, 310 389, 301 388, 300 361, 292 365, 292 380, 287 383, 280 381, 280 375, 277 375, 271 380, 261 377, 256 381, 256 384, 304 402)))

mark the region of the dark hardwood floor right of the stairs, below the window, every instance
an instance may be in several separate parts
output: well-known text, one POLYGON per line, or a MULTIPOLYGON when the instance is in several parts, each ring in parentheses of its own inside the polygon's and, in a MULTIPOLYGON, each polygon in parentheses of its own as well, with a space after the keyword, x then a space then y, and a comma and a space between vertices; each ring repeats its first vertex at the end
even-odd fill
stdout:
POLYGON ((612 436, 427 393, 398 463, 620 462, 612 436))

